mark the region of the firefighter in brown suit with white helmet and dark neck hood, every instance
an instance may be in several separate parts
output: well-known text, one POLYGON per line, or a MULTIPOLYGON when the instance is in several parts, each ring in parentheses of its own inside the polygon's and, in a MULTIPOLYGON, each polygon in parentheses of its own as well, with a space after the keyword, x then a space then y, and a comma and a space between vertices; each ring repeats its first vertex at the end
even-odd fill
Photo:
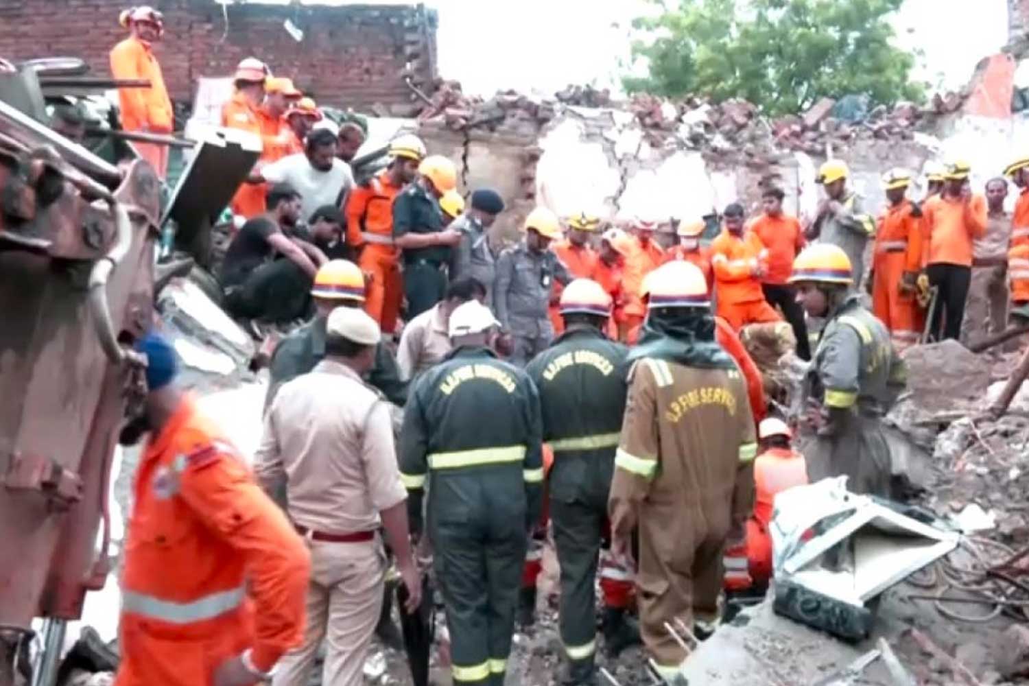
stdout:
POLYGON ((742 540, 754 499, 754 421, 743 374, 715 341, 704 275, 681 260, 644 284, 608 501, 614 548, 639 527, 640 625, 661 676, 679 679, 676 618, 706 636, 718 619, 722 551, 742 540))

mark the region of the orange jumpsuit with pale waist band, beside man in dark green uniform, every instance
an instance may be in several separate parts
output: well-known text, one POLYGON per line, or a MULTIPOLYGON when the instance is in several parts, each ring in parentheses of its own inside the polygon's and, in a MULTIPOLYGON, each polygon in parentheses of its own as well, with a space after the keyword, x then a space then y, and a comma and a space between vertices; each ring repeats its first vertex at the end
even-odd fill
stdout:
POLYGON ((393 245, 393 198, 402 186, 393 185, 389 171, 358 186, 347 198, 347 243, 363 246, 357 263, 371 275, 364 310, 379 322, 383 333, 396 330, 403 302, 400 251, 393 245))

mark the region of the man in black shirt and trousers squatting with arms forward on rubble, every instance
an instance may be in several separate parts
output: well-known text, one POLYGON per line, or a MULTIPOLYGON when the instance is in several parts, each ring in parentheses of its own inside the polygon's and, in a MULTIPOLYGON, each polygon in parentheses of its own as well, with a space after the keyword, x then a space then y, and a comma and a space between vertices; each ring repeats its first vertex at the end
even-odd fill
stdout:
POLYGON ((275 184, 267 202, 268 211, 233 239, 218 280, 233 317, 290 322, 308 314, 311 284, 326 259, 310 243, 287 236, 300 210, 300 196, 291 186, 275 184))

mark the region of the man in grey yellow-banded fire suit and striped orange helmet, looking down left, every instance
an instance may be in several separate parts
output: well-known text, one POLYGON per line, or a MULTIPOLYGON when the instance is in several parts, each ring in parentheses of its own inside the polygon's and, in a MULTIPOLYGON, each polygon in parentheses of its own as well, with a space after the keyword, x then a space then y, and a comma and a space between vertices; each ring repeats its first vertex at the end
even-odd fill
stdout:
POLYGON ((882 418, 907 384, 886 326, 850 291, 850 259, 819 243, 793 261, 790 283, 811 317, 826 320, 804 382, 801 446, 812 483, 846 475, 847 489, 890 497, 890 447, 882 418))

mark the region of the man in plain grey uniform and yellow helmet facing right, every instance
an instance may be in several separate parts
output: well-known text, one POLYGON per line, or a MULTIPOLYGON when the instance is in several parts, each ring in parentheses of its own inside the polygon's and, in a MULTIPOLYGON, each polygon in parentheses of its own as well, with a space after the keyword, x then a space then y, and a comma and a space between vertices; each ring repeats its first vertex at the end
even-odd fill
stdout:
POLYGON ((572 280, 564 263, 552 251, 551 242, 561 238, 561 222, 546 208, 538 207, 526 217, 525 240, 500 253, 493 302, 504 331, 513 336, 511 363, 524 367, 543 352, 554 337, 547 308, 554 281, 572 280))

